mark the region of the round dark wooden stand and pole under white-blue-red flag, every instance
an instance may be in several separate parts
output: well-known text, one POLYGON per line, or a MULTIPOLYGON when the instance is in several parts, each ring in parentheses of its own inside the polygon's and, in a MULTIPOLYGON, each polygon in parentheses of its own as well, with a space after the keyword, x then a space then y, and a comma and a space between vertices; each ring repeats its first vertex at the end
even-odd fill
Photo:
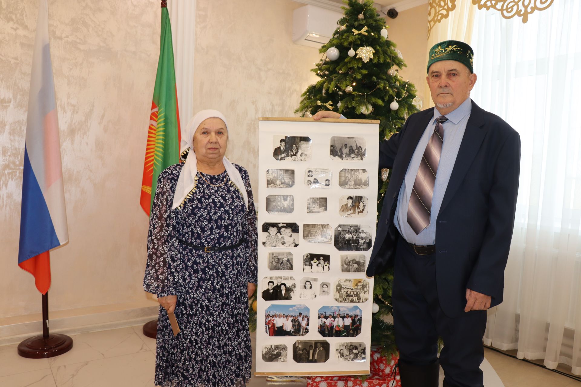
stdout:
POLYGON ((30 359, 44 359, 62 355, 73 348, 73 339, 67 335, 49 334, 48 292, 42 295, 42 335, 29 337, 18 345, 18 355, 30 359))

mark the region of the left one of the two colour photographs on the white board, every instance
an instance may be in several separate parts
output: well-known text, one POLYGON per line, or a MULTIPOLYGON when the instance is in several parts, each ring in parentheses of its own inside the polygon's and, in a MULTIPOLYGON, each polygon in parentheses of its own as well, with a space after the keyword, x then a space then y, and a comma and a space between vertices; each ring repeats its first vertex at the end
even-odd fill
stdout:
POLYGON ((268 336, 304 336, 309 333, 306 305, 269 305, 264 312, 264 331, 268 336))

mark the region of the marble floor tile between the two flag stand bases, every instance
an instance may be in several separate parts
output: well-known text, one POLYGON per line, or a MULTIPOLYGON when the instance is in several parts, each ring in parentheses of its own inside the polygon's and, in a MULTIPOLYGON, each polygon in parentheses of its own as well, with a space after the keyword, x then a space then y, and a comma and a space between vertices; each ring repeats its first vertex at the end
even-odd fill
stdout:
POLYGON ((56 367, 66 364, 149 351, 148 346, 130 327, 82 333, 71 337, 73 349, 48 359, 53 371, 56 367))

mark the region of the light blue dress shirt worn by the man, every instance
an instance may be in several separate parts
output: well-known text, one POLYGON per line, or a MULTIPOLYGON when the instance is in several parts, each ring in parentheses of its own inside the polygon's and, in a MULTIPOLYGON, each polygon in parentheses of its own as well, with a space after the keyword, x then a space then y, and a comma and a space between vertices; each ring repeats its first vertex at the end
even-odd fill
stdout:
POLYGON ((456 108, 456 110, 446 114, 448 121, 443 123, 444 141, 442 144, 440 162, 437 166, 430 224, 419 234, 416 234, 407 222, 407 208, 410 204, 411 191, 414 187, 415 176, 418 174, 419 164, 422 161, 424 151, 436 126, 436 118, 442 115, 437 111, 437 107, 434 108, 432 120, 429 122, 428 126, 426 126, 424 134, 419 139, 418 145, 415 147, 414 155, 411 157, 410 164, 407 167, 406 177, 401 184, 399 197, 397 198, 396 216, 393 222, 401 236, 403 236, 409 243, 416 245, 433 245, 436 243, 437 215, 438 212, 440 212, 444 193, 446 193, 450 175, 452 174, 452 169, 454 168, 456 156, 458 155, 458 150, 460 150, 462 137, 464 137, 466 124, 471 112, 472 100, 467 98, 456 108))

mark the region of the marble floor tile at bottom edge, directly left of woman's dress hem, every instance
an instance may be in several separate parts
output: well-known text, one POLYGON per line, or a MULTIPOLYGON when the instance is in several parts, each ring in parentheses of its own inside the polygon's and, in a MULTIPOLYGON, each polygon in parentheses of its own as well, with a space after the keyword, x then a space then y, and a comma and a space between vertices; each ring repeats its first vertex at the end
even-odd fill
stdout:
POLYGON ((155 356, 151 351, 56 367, 57 387, 153 387, 155 356))

